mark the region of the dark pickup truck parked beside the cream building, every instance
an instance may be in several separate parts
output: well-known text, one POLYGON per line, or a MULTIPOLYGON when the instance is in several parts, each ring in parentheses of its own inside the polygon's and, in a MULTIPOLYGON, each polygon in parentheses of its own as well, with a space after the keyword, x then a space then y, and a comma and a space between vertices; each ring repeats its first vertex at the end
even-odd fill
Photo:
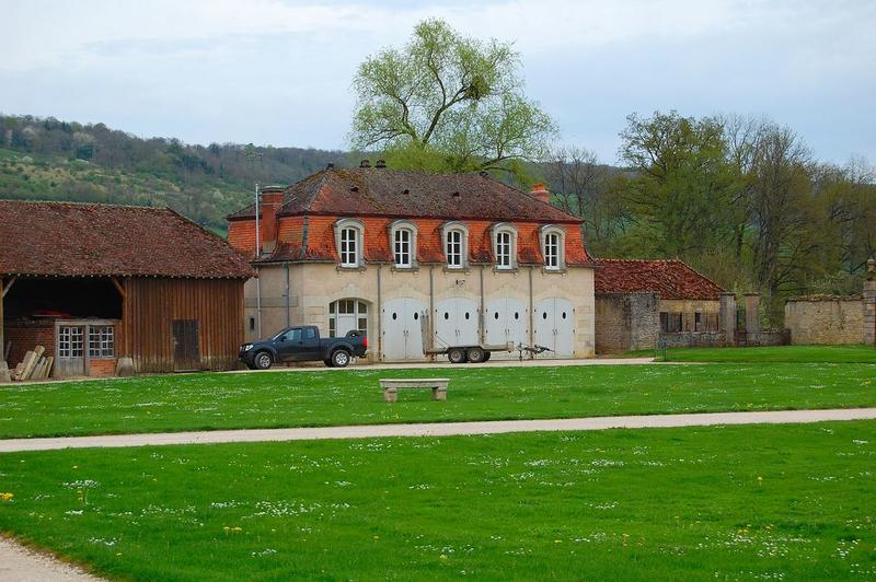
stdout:
POLYGON ((270 339, 260 339, 240 347, 240 360, 250 370, 267 370, 277 362, 315 362, 328 368, 345 368, 350 360, 368 351, 368 338, 359 331, 344 337, 320 338, 315 325, 284 329, 270 339))

